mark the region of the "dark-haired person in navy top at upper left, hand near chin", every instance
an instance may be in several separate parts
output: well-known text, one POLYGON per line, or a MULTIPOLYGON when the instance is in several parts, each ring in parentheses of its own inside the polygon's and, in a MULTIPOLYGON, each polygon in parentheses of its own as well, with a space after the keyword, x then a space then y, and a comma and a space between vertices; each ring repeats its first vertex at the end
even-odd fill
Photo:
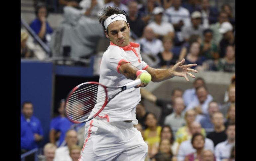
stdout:
POLYGON ((40 4, 36 6, 36 17, 37 18, 30 24, 30 27, 41 40, 43 40, 45 43, 49 43, 51 41, 53 29, 47 22, 48 11, 44 5, 40 4))

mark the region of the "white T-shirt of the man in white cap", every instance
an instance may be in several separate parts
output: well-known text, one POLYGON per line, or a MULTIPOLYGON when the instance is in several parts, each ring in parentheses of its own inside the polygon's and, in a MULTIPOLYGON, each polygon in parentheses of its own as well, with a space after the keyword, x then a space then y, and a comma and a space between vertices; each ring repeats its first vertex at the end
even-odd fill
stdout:
POLYGON ((174 27, 171 23, 163 22, 161 25, 158 25, 155 21, 148 24, 149 27, 151 27, 155 34, 159 35, 167 35, 169 32, 174 32, 174 27))

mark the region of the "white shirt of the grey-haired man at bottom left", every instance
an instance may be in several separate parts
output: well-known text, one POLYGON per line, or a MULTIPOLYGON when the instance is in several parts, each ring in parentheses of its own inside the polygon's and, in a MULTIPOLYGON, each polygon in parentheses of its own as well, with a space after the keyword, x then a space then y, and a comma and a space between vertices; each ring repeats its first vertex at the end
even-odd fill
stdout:
POLYGON ((72 161, 71 157, 69 156, 69 149, 67 146, 56 149, 54 161, 72 161))

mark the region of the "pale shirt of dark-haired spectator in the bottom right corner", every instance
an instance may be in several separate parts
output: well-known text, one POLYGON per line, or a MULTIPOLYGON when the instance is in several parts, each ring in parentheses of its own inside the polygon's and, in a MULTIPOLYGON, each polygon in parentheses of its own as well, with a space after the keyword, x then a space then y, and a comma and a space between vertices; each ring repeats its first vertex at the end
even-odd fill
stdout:
POLYGON ((228 141, 220 142, 215 147, 215 157, 216 161, 222 161, 223 159, 228 159, 230 156, 230 151, 234 143, 228 143, 228 141))

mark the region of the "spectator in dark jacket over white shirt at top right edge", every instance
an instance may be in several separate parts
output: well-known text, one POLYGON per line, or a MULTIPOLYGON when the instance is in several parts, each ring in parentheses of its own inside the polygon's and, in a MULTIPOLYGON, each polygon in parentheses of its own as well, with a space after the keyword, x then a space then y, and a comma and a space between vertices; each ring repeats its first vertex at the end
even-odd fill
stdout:
POLYGON ((209 0, 201 0, 198 11, 202 14, 202 24, 204 29, 208 29, 210 24, 218 21, 218 9, 210 6, 209 0))

